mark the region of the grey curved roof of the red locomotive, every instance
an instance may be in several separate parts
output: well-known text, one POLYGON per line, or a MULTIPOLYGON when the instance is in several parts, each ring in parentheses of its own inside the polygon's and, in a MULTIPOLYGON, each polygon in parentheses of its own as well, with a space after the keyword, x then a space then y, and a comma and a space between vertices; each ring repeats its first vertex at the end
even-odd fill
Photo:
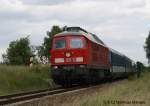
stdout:
POLYGON ((93 41, 94 43, 107 47, 106 44, 101 39, 99 39, 99 37, 97 37, 97 35, 87 32, 86 30, 80 27, 66 27, 64 28, 63 32, 56 34, 55 36, 66 36, 66 35, 75 35, 75 36, 83 35, 89 40, 93 41))

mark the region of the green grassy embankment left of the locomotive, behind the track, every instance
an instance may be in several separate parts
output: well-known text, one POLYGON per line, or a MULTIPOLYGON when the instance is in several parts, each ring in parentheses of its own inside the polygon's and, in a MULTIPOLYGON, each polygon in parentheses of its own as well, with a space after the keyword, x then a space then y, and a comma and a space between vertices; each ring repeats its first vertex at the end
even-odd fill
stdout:
POLYGON ((0 65, 0 95, 49 88, 48 66, 6 66, 0 65))

